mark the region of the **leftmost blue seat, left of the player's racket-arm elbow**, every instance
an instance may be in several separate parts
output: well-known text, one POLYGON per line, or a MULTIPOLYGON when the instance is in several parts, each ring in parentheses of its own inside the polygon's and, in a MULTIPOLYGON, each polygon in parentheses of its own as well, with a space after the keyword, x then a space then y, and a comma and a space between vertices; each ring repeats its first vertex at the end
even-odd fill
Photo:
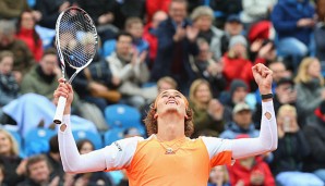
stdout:
POLYGON ((26 157, 48 152, 49 140, 56 134, 56 131, 49 128, 31 129, 24 138, 24 152, 26 157))

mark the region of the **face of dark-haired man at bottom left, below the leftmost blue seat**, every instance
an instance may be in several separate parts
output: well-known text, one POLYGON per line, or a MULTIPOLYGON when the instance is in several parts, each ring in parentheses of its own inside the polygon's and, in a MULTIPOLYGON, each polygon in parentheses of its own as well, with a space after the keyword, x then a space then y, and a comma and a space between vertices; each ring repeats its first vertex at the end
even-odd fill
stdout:
POLYGON ((31 164, 27 169, 29 169, 29 177, 36 183, 43 183, 49 179, 50 170, 46 161, 39 161, 31 164))

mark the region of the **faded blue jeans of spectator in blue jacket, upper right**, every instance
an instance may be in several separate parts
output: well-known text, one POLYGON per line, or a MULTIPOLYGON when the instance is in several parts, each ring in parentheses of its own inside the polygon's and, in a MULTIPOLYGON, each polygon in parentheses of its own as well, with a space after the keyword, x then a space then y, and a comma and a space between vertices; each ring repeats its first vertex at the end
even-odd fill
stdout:
POLYGON ((294 37, 287 37, 278 40, 278 54, 281 57, 291 57, 292 67, 296 71, 302 60, 309 52, 308 46, 294 37))

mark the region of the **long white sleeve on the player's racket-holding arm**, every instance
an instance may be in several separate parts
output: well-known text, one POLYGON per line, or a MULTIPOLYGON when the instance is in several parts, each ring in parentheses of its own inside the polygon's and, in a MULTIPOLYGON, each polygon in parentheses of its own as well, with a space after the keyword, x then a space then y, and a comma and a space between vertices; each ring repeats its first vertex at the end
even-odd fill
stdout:
POLYGON ((70 115, 63 116, 64 132, 59 129, 59 149, 62 165, 65 172, 84 173, 95 171, 112 171, 128 166, 134 156, 139 140, 142 137, 132 137, 112 142, 103 149, 80 154, 70 125, 70 115), (128 146, 128 148, 127 148, 128 146))

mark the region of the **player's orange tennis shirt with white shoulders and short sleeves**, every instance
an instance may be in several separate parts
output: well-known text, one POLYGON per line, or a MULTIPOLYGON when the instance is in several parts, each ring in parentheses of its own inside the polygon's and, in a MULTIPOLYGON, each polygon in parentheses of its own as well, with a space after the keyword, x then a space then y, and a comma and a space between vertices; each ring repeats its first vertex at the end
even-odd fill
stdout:
POLYGON ((166 154, 166 147, 173 144, 161 145, 155 135, 113 142, 118 152, 110 156, 107 171, 125 169, 130 186, 206 186, 213 166, 232 162, 228 139, 186 138, 174 153, 166 154))

